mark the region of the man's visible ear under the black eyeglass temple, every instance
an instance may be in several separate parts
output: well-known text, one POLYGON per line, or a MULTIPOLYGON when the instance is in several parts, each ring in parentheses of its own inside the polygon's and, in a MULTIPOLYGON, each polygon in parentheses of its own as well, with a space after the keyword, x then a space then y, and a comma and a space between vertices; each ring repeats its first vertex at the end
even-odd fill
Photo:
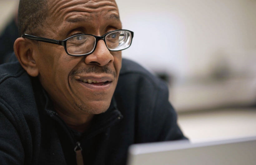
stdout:
POLYGON ((32 76, 38 76, 38 68, 33 58, 33 44, 28 39, 19 37, 14 42, 14 53, 19 60, 21 66, 32 76))

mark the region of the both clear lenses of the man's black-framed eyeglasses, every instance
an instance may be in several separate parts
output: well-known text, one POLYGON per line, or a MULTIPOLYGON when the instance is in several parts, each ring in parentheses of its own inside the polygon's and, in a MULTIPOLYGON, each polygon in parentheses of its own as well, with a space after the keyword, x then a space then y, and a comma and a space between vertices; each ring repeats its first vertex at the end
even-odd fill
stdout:
MULTIPOLYGON (((131 32, 115 31, 105 36, 106 46, 110 51, 126 49, 131 44, 131 32)), ((90 35, 71 37, 66 41, 67 52, 71 55, 89 54, 94 50, 96 38, 90 35)))

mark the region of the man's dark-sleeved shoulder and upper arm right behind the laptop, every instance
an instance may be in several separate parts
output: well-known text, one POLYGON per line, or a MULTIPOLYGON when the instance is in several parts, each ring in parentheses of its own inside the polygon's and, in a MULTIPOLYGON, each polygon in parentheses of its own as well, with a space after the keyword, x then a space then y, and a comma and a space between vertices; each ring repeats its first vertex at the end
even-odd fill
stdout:
POLYGON ((139 64, 123 60, 115 99, 124 122, 136 128, 136 143, 184 138, 168 97, 165 82, 139 64))

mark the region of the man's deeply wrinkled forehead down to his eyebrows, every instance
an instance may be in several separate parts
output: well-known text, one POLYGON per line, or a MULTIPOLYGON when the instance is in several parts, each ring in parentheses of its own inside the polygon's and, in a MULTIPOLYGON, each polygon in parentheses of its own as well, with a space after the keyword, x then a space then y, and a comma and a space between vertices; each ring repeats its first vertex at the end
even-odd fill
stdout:
POLYGON ((47 6, 50 26, 69 27, 81 22, 91 26, 106 22, 121 24, 115 0, 49 0, 47 6))

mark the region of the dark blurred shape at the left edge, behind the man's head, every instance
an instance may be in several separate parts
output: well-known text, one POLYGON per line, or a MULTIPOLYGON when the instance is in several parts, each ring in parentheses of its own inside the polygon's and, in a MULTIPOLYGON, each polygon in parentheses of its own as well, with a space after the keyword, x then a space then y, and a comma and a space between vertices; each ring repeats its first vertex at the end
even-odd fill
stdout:
POLYGON ((11 54, 13 53, 14 41, 19 37, 18 27, 13 18, 7 24, 0 36, 0 64, 9 62, 11 54))

